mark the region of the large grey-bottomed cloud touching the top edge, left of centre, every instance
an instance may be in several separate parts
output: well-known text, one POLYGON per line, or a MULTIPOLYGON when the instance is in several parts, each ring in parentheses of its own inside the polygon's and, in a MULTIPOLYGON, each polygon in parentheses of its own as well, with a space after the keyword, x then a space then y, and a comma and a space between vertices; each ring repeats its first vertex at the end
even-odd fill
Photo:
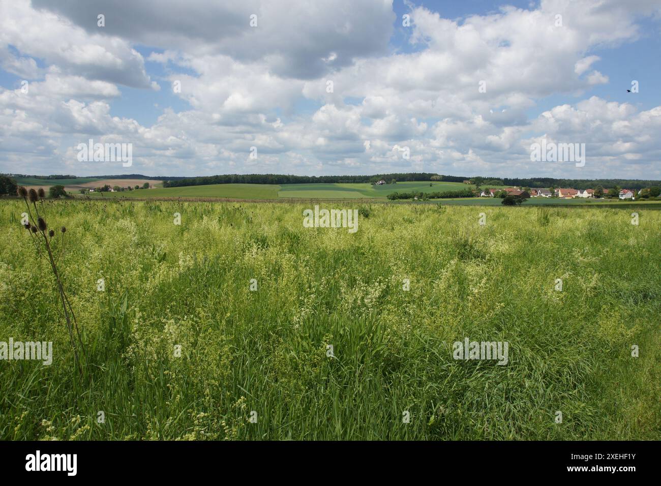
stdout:
POLYGON ((395 15, 383 0, 78 0, 33 4, 66 17, 89 34, 97 14, 104 32, 149 46, 238 61, 266 61, 283 77, 311 78, 385 54, 395 15), (255 17, 251 26, 251 16, 255 17))

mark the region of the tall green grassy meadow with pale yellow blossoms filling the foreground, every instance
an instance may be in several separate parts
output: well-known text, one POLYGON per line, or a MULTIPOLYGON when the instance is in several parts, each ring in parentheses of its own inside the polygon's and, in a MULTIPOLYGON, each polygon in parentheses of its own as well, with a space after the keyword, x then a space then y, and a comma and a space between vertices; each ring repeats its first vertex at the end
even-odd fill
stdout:
POLYGON ((307 203, 37 204, 67 227, 83 372, 2 201, 0 341, 53 362, 0 360, 0 439, 661 438, 659 211, 319 203, 358 209, 349 233, 303 227, 307 203), (508 363, 453 359, 466 337, 508 363))

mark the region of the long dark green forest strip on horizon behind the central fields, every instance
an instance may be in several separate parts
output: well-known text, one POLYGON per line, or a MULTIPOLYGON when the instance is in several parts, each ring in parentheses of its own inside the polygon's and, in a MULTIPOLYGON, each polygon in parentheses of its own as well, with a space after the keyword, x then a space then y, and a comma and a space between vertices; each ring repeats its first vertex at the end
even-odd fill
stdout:
POLYGON ((349 182, 397 182, 430 181, 437 174, 432 173, 404 173, 404 174, 377 174, 377 175, 279 175, 279 174, 226 174, 210 175, 207 177, 192 177, 187 179, 170 179, 163 181, 163 187, 206 186, 208 184, 346 184, 349 182))

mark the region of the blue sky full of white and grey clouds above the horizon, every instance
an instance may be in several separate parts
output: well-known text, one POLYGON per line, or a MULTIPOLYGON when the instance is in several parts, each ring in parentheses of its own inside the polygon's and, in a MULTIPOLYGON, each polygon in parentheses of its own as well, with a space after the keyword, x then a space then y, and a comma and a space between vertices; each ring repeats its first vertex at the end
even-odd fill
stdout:
POLYGON ((0 0, 0 172, 661 179, 660 32, 661 0, 0 0))

